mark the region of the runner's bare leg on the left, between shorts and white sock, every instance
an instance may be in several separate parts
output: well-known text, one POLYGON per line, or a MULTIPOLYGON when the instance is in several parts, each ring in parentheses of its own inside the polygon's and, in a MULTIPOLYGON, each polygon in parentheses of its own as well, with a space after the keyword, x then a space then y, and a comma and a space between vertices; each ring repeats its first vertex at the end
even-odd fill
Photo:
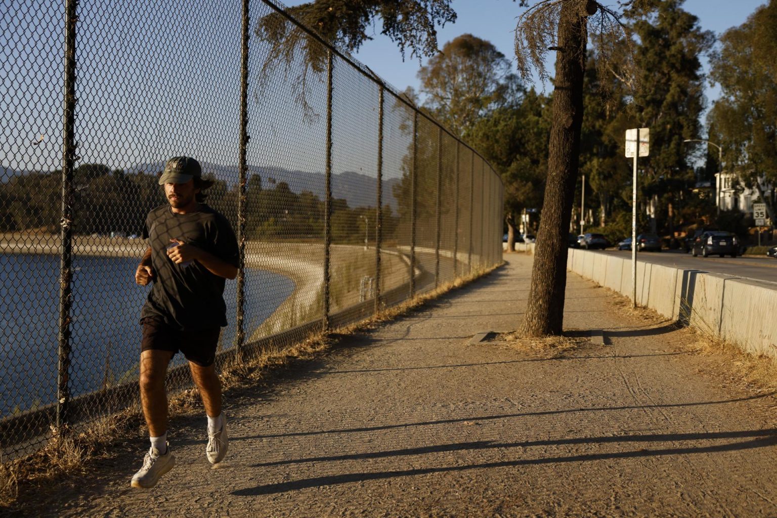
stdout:
POLYGON ((167 432, 167 395, 165 376, 172 353, 147 350, 141 353, 141 405, 148 435, 159 437, 167 432))

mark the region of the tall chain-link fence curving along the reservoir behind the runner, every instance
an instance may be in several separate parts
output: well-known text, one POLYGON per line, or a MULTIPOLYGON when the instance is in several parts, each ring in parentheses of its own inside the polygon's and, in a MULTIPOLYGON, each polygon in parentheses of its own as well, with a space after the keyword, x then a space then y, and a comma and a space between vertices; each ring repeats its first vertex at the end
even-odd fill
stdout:
POLYGON ((137 401, 134 270, 169 157, 200 161, 239 238, 221 366, 500 261, 490 165, 279 5, 4 9, 3 458, 137 401))

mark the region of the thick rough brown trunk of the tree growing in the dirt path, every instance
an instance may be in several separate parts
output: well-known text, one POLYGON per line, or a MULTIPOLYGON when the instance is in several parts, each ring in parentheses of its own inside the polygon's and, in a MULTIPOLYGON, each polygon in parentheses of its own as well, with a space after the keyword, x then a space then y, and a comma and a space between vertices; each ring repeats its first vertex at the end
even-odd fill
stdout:
POLYGON ((564 2, 559 16, 556 87, 548 145, 548 180, 531 271, 531 289, 521 332, 560 335, 566 288, 567 227, 572 215, 583 124, 587 2, 564 2))

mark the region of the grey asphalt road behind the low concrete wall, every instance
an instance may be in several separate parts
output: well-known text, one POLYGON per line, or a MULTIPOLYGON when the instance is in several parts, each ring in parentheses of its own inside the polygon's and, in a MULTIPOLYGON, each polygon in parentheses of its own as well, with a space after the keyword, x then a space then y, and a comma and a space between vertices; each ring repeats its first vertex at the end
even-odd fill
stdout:
MULTIPOLYGON (((598 250, 611 256, 631 257, 629 250, 598 250)), ((663 252, 640 252, 638 261, 653 262, 664 266, 674 266, 682 269, 699 269, 710 273, 723 273, 752 280, 760 280, 777 284, 777 259, 771 257, 744 256, 732 257, 693 257, 690 253, 674 250, 663 252)))

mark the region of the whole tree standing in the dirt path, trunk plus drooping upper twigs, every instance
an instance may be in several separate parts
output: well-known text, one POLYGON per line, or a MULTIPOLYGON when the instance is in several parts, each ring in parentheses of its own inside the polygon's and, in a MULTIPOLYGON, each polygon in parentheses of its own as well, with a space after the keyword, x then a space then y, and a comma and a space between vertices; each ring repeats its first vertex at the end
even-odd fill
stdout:
MULTIPOLYGON (((636 5, 637 0, 625 2, 636 5)), ((527 0, 521 0, 527 5, 527 0)), ((568 231, 575 185, 580 169, 580 134, 584 115, 584 76, 589 32, 601 58, 601 74, 611 73, 611 62, 620 64, 622 74, 632 75, 628 29, 621 15, 594 0, 543 0, 524 12, 517 22, 515 54, 524 78, 538 71, 548 78, 545 56, 556 52, 553 78, 553 113, 548 145, 548 176, 542 203, 542 218, 535 245, 531 288, 521 331, 524 335, 559 335, 563 332, 564 295, 568 231)))

